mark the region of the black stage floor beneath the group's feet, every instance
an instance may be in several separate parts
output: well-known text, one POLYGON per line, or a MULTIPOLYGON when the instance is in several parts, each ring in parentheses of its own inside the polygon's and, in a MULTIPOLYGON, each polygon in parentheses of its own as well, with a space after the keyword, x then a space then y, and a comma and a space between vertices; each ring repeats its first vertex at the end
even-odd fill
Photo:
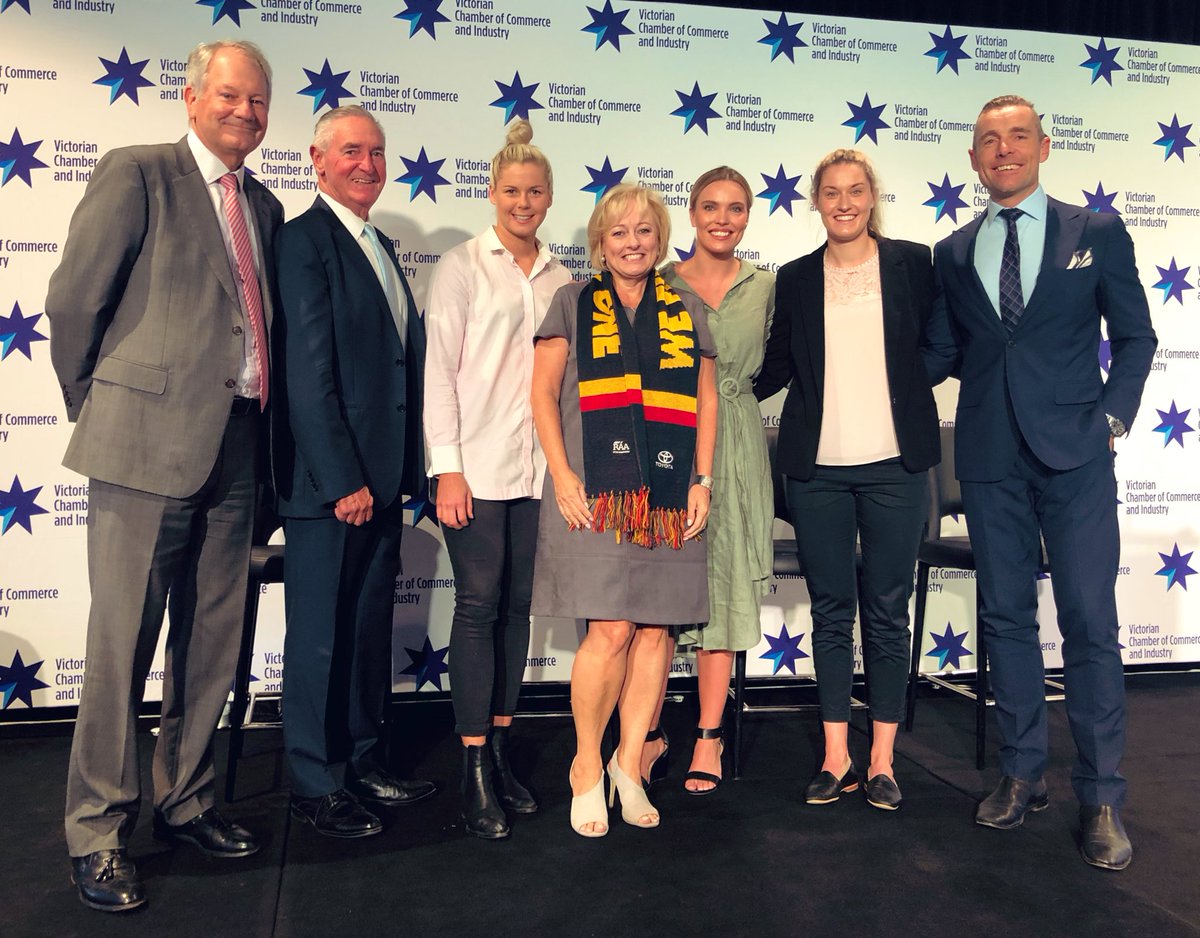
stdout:
MULTIPOLYGON (((568 825, 566 718, 518 718, 516 762, 542 811, 515 818, 502 842, 458 826, 448 704, 396 708, 397 768, 443 790, 386 813, 385 832, 364 841, 329 841, 288 819, 278 733, 265 730, 250 735, 227 808, 264 849, 217 861, 164 848, 150 837, 146 806, 131 852, 150 902, 120 915, 84 908, 68 884, 68 740, 7 738, 0 936, 1200 936, 1198 705, 1200 675, 1129 679, 1134 861, 1121 873, 1079 859, 1061 704, 1051 704, 1050 810, 1014 831, 972 823, 995 781, 995 752, 976 771, 972 706, 944 692, 924 697, 916 730, 901 734, 905 804, 895 813, 857 793, 827 807, 802 802, 820 742, 812 712, 749 716, 743 778, 689 798, 678 782, 694 702, 668 704, 671 778, 654 789, 661 828, 636 830, 614 814, 595 841, 568 825)), ((862 733, 852 745, 865 751, 862 733)))

